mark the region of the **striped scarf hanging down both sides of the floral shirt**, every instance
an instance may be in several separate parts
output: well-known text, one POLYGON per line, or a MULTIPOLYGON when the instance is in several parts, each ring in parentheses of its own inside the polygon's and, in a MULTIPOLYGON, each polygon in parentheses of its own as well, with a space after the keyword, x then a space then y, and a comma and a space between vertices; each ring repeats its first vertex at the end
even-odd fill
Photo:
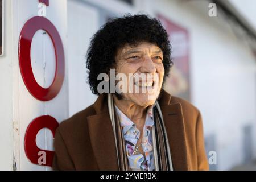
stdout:
MULTIPOLYGON (((129 163, 126 156, 125 139, 123 138, 121 125, 114 109, 112 94, 108 94, 109 116, 112 122, 115 148, 117 150, 118 167, 121 171, 129 171, 129 163)), ((158 104, 153 107, 154 126, 152 127, 153 151, 156 171, 172 171, 170 146, 168 143, 166 128, 163 123, 163 115, 158 104)))

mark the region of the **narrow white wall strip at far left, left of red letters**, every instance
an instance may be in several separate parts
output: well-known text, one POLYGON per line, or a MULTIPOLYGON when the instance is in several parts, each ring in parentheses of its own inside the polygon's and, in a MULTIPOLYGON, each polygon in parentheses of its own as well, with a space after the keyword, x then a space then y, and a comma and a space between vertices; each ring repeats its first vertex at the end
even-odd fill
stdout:
POLYGON ((11 1, 6 1, 3 9, 5 10, 5 30, 4 51, 5 55, 0 57, 0 170, 13 169, 13 42, 10 32, 12 24, 7 23, 11 20, 11 1))

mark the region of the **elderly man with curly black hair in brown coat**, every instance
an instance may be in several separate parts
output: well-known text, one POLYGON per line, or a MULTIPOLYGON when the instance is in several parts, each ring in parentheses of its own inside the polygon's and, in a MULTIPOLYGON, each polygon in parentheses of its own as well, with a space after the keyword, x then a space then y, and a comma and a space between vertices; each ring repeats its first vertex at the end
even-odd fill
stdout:
POLYGON ((162 89, 170 54, 157 19, 126 15, 102 26, 86 65, 90 89, 99 96, 60 123, 53 169, 207 170, 200 111, 162 89), (108 78, 99 79, 102 73, 108 78))

